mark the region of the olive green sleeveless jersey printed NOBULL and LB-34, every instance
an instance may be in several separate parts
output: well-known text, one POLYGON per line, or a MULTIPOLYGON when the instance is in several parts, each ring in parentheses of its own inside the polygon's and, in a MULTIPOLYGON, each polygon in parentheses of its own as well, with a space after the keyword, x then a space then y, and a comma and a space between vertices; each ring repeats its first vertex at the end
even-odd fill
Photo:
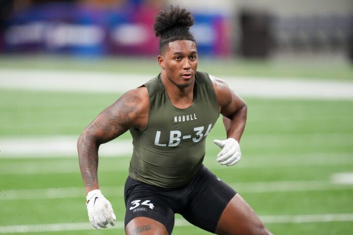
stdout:
POLYGON ((188 108, 175 107, 160 75, 145 84, 150 98, 146 128, 131 128, 133 154, 129 175, 165 188, 188 183, 205 155, 205 137, 214 127, 219 110, 207 73, 196 72, 194 100, 188 108))

